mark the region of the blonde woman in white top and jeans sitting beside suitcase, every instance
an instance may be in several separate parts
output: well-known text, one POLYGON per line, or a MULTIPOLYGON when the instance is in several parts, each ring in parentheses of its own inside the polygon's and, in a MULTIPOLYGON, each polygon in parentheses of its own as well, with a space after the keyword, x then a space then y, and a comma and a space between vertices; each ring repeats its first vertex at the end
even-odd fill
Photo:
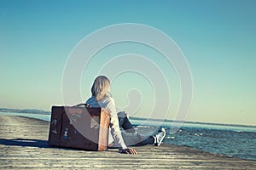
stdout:
POLYGON ((145 144, 155 144, 160 145, 162 140, 166 136, 166 130, 161 128, 159 133, 155 136, 150 136, 147 139, 143 139, 135 129, 131 126, 131 122, 127 118, 125 112, 116 111, 114 100, 110 95, 110 81, 108 77, 99 76, 96 77, 92 87, 91 87, 91 98, 86 101, 87 105, 90 107, 102 107, 107 108, 110 111, 111 119, 109 123, 110 133, 108 144, 110 146, 119 147, 121 153, 126 154, 137 154, 136 150, 128 148, 126 144, 129 145, 145 145, 145 144), (118 116, 119 115, 119 116, 118 116), (120 127, 123 127, 127 133, 132 133, 131 138, 126 138, 127 141, 124 141, 120 127), (129 141, 131 139, 131 141, 129 141), (136 142, 134 142, 136 141, 136 142), (126 144, 125 144, 126 143, 126 144))

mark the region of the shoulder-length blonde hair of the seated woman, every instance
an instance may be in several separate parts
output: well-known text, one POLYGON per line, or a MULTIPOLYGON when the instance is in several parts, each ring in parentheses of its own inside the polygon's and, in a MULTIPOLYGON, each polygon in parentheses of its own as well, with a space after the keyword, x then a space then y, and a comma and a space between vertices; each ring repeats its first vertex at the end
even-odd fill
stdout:
POLYGON ((110 81, 108 80, 108 77, 96 77, 90 88, 90 92, 97 101, 108 98, 110 96, 110 81))

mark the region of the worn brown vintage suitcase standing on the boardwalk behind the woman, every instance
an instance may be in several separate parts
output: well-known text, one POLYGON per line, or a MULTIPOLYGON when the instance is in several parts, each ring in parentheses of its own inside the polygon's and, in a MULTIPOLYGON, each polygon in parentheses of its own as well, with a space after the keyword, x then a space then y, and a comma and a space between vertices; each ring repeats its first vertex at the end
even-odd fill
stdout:
POLYGON ((52 106, 49 146, 107 150, 110 114, 103 108, 52 106))

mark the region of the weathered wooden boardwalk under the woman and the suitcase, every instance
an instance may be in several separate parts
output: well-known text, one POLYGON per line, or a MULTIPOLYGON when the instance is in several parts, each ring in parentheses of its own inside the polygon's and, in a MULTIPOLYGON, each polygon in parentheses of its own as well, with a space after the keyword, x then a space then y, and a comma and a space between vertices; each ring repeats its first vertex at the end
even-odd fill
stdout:
POLYGON ((162 144, 133 147, 138 155, 50 148, 49 122, 22 116, 0 116, 0 168, 3 169, 256 169, 240 160, 162 144))

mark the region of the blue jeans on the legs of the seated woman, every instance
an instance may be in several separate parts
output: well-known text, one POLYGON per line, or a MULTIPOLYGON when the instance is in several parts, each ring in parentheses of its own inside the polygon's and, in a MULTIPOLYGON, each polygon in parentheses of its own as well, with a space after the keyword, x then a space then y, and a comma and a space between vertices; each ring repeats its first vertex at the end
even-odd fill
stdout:
POLYGON ((136 132, 132 127, 130 120, 124 115, 124 112, 119 112, 119 127, 122 127, 125 132, 122 133, 123 139, 127 146, 142 146, 147 144, 154 144, 154 137, 143 137, 136 132))

